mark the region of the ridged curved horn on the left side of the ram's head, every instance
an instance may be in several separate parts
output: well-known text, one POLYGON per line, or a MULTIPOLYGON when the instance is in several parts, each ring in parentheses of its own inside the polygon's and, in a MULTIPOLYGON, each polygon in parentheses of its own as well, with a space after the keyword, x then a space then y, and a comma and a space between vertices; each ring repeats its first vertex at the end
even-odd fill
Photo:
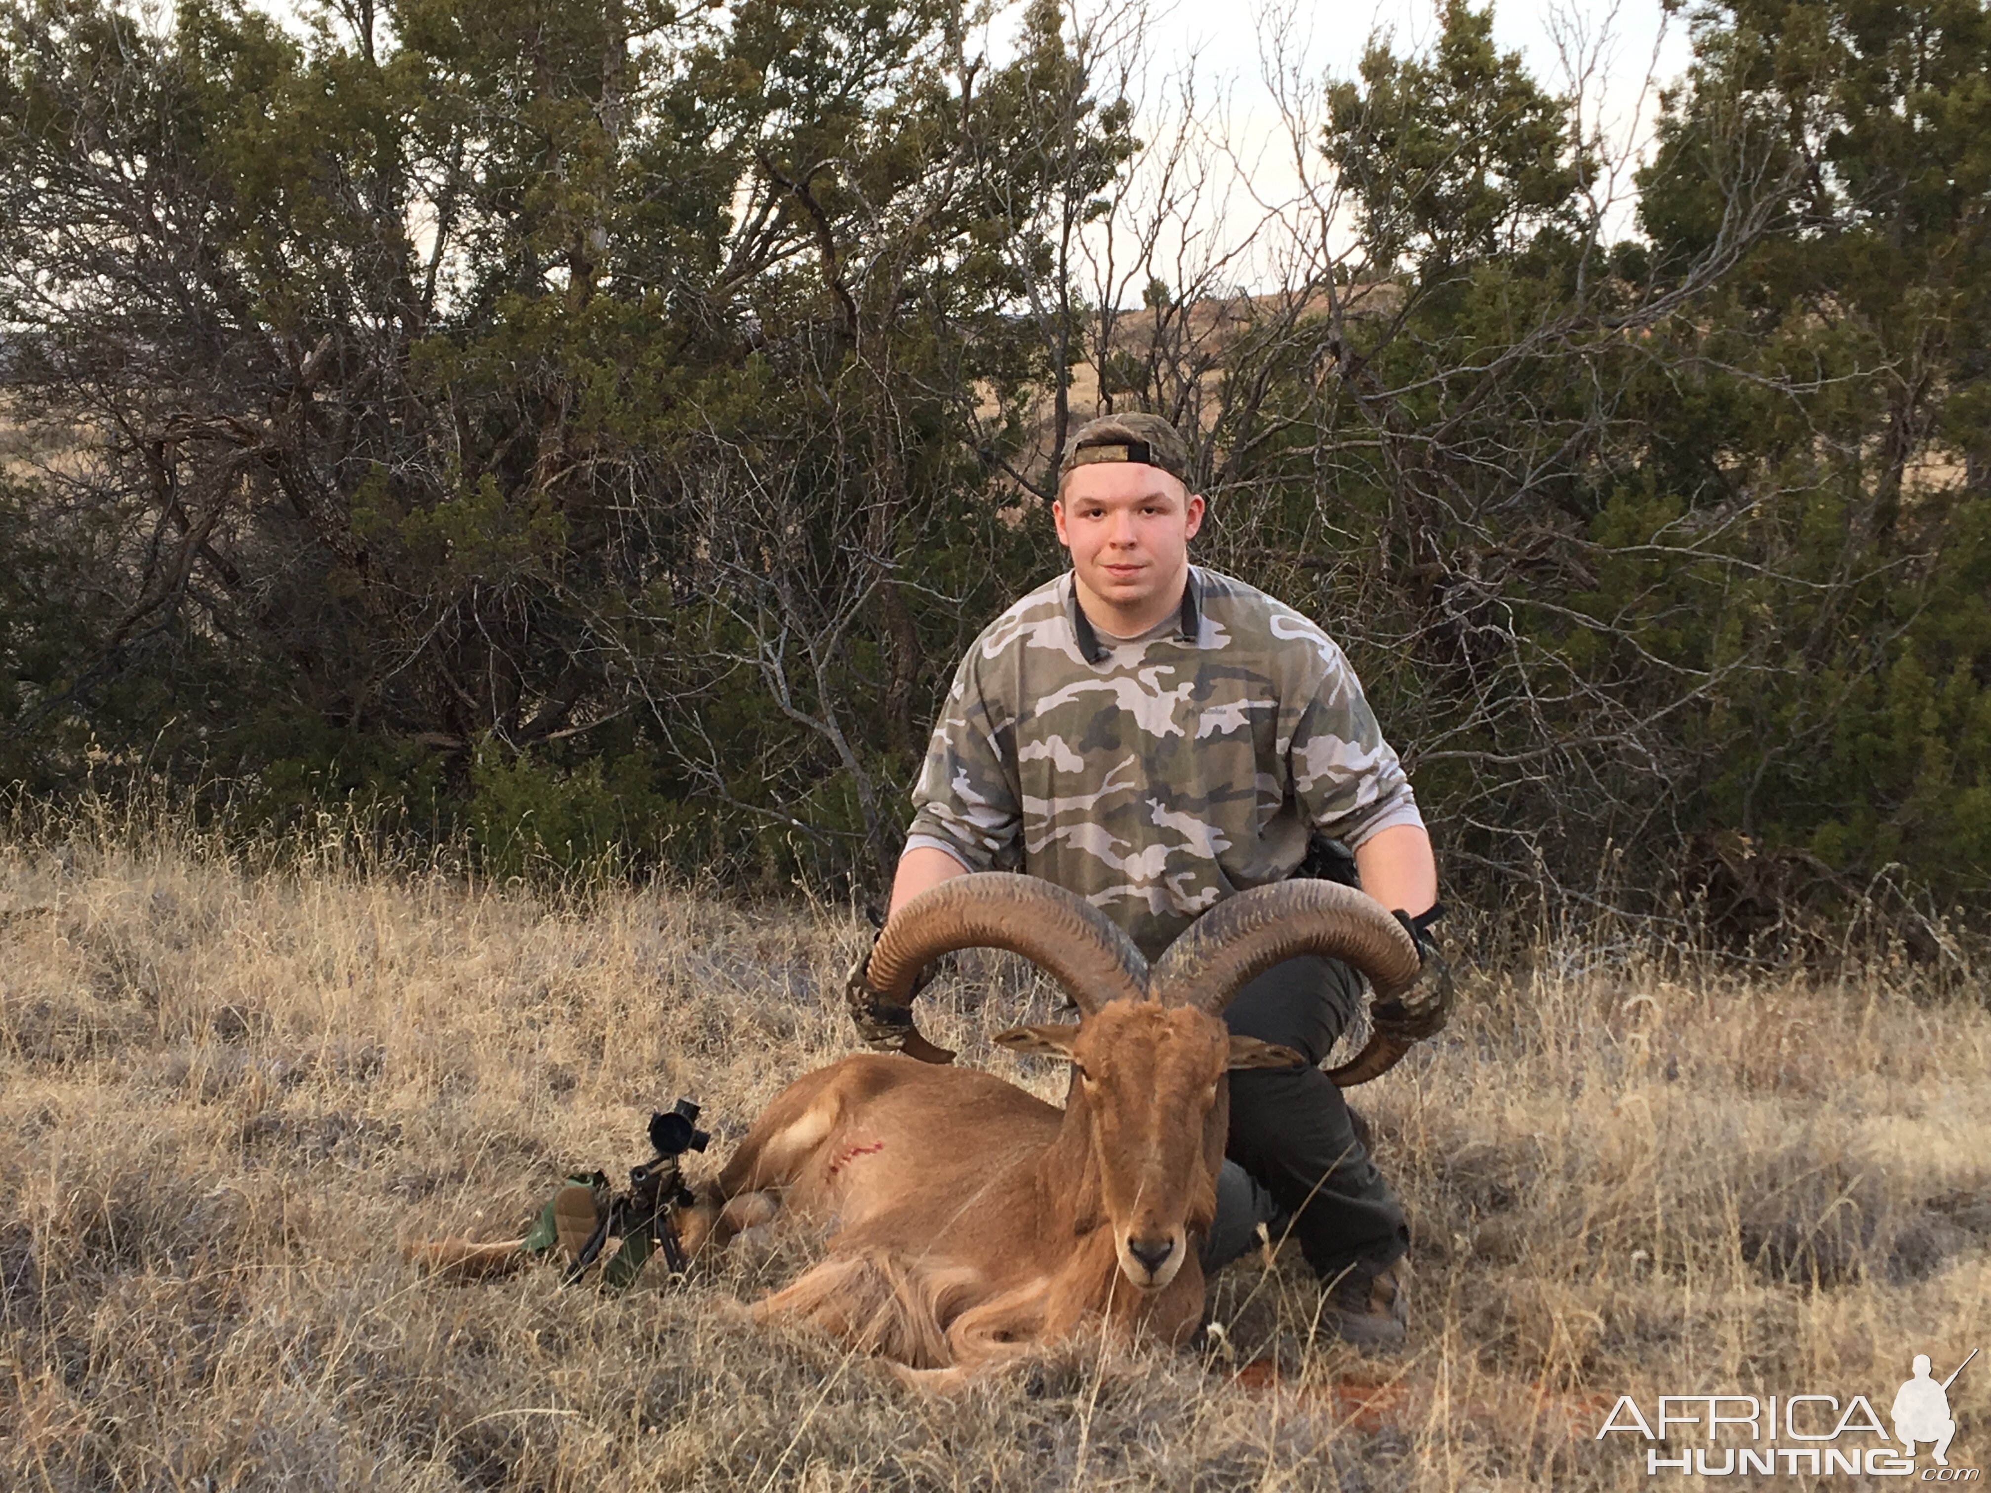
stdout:
POLYGON ((1147 960, 1099 908, 1037 876, 952 876, 908 902, 884 926, 864 969, 894 1005, 912 1005, 912 981, 954 950, 1009 950, 1065 987, 1085 1015, 1107 1001, 1143 999, 1147 960))

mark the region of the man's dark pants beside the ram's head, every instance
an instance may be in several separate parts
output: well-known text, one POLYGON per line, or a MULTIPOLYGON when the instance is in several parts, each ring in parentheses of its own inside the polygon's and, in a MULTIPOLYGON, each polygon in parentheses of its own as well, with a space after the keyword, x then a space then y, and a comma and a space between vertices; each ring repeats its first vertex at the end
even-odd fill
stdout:
POLYGON ((1360 999, 1362 975, 1304 956, 1266 969, 1224 1011, 1230 1031, 1306 1057, 1300 1069, 1230 1075, 1224 1153, 1292 1214, 1292 1236, 1324 1280, 1350 1264, 1380 1270, 1410 1248, 1404 1208, 1356 1139, 1342 1091, 1320 1071, 1360 999))

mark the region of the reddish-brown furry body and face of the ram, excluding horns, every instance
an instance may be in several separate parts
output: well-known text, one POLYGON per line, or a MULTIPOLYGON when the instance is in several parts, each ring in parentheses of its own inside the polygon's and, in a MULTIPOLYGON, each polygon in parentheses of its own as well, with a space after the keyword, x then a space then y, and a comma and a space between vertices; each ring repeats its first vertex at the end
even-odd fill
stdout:
POLYGON ((1093 1320, 1185 1340, 1203 1314, 1224 1071, 1298 1057, 1137 1001, 997 1041, 1071 1059, 1063 1111, 974 1069, 846 1057, 755 1121, 681 1220, 687 1248, 725 1246, 773 1200, 832 1228, 828 1258, 757 1318, 812 1322, 932 1386, 1093 1320), (1133 1244, 1167 1254, 1149 1268, 1133 1244))

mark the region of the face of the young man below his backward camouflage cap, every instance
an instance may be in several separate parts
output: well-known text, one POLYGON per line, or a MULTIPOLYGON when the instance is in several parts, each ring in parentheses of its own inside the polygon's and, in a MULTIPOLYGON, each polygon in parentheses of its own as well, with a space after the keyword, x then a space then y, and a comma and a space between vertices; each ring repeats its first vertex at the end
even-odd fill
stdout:
POLYGON ((1181 593, 1203 500, 1159 466, 1093 462, 1065 478, 1051 518, 1085 589, 1115 611, 1139 613, 1181 593))

